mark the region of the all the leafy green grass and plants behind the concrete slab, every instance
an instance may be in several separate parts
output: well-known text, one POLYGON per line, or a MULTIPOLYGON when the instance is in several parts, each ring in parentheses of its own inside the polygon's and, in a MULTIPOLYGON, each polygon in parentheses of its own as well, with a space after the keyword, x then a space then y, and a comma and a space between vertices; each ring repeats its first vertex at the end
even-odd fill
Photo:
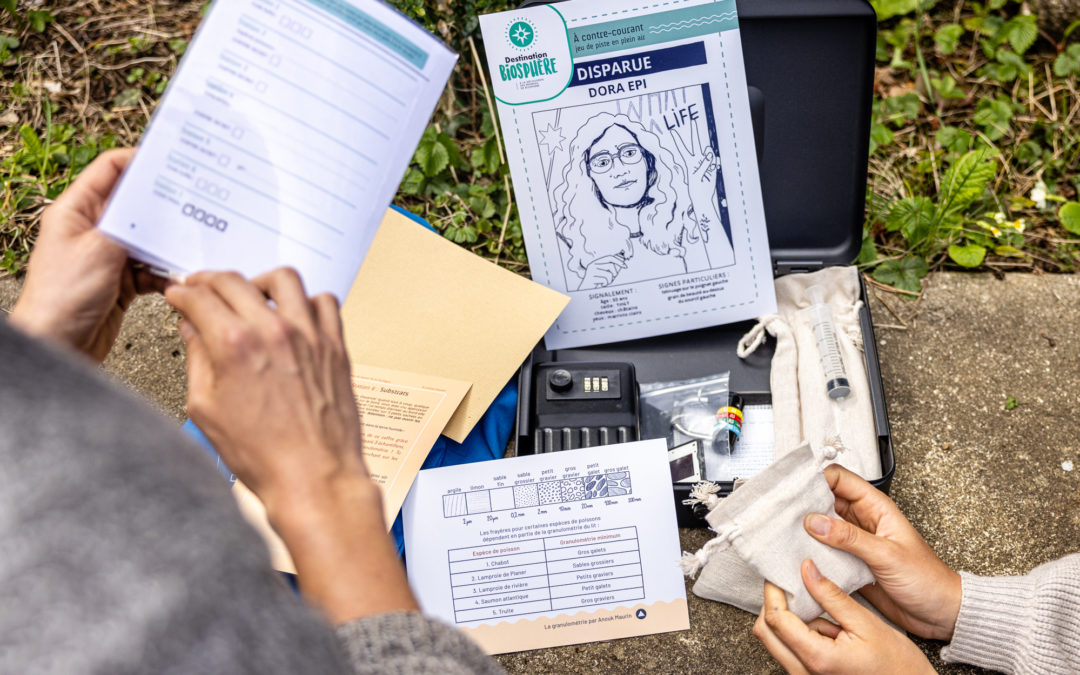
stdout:
MULTIPOLYGON (((395 201, 525 273, 509 170, 476 67, 477 14, 510 3, 395 4, 461 55, 395 201)), ((858 264, 907 295, 942 268, 1075 271, 1080 31, 1040 31, 1013 0, 874 4, 881 22, 858 264)), ((0 99, 9 104, 0 113, 0 270, 17 272, 44 205, 99 151, 137 141, 205 3, 0 8, 0 99)))

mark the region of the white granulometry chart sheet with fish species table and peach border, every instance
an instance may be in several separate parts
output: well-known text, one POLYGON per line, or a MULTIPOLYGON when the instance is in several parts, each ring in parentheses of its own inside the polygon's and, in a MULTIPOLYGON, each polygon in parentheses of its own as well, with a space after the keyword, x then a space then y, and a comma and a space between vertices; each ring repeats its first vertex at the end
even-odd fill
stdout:
POLYGON ((690 627, 663 440, 421 471, 420 606, 488 653, 690 627))

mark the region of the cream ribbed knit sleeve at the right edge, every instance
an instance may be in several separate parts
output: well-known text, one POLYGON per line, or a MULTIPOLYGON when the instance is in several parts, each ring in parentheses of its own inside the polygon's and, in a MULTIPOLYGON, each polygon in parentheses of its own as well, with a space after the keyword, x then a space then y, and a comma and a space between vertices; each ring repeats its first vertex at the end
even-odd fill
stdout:
POLYGON ((943 660, 1005 673, 1080 672, 1080 553, 1024 577, 960 578, 960 613, 943 660))

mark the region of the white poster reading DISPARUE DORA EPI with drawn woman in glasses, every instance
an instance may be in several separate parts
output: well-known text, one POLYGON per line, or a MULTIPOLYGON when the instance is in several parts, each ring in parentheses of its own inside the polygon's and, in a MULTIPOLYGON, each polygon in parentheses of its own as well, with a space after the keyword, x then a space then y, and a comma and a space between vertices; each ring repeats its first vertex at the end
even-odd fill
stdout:
POLYGON ((481 17, 549 349, 775 310, 734 0, 481 17))

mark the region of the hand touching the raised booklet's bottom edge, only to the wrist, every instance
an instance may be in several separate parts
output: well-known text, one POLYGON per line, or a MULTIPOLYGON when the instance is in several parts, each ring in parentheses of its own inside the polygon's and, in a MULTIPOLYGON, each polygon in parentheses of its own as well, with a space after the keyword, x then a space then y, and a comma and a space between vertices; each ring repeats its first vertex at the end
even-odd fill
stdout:
POLYGON ((268 507, 338 476, 367 477, 333 296, 309 300, 282 269, 254 283, 201 272, 165 299, 184 316, 188 414, 268 507))

